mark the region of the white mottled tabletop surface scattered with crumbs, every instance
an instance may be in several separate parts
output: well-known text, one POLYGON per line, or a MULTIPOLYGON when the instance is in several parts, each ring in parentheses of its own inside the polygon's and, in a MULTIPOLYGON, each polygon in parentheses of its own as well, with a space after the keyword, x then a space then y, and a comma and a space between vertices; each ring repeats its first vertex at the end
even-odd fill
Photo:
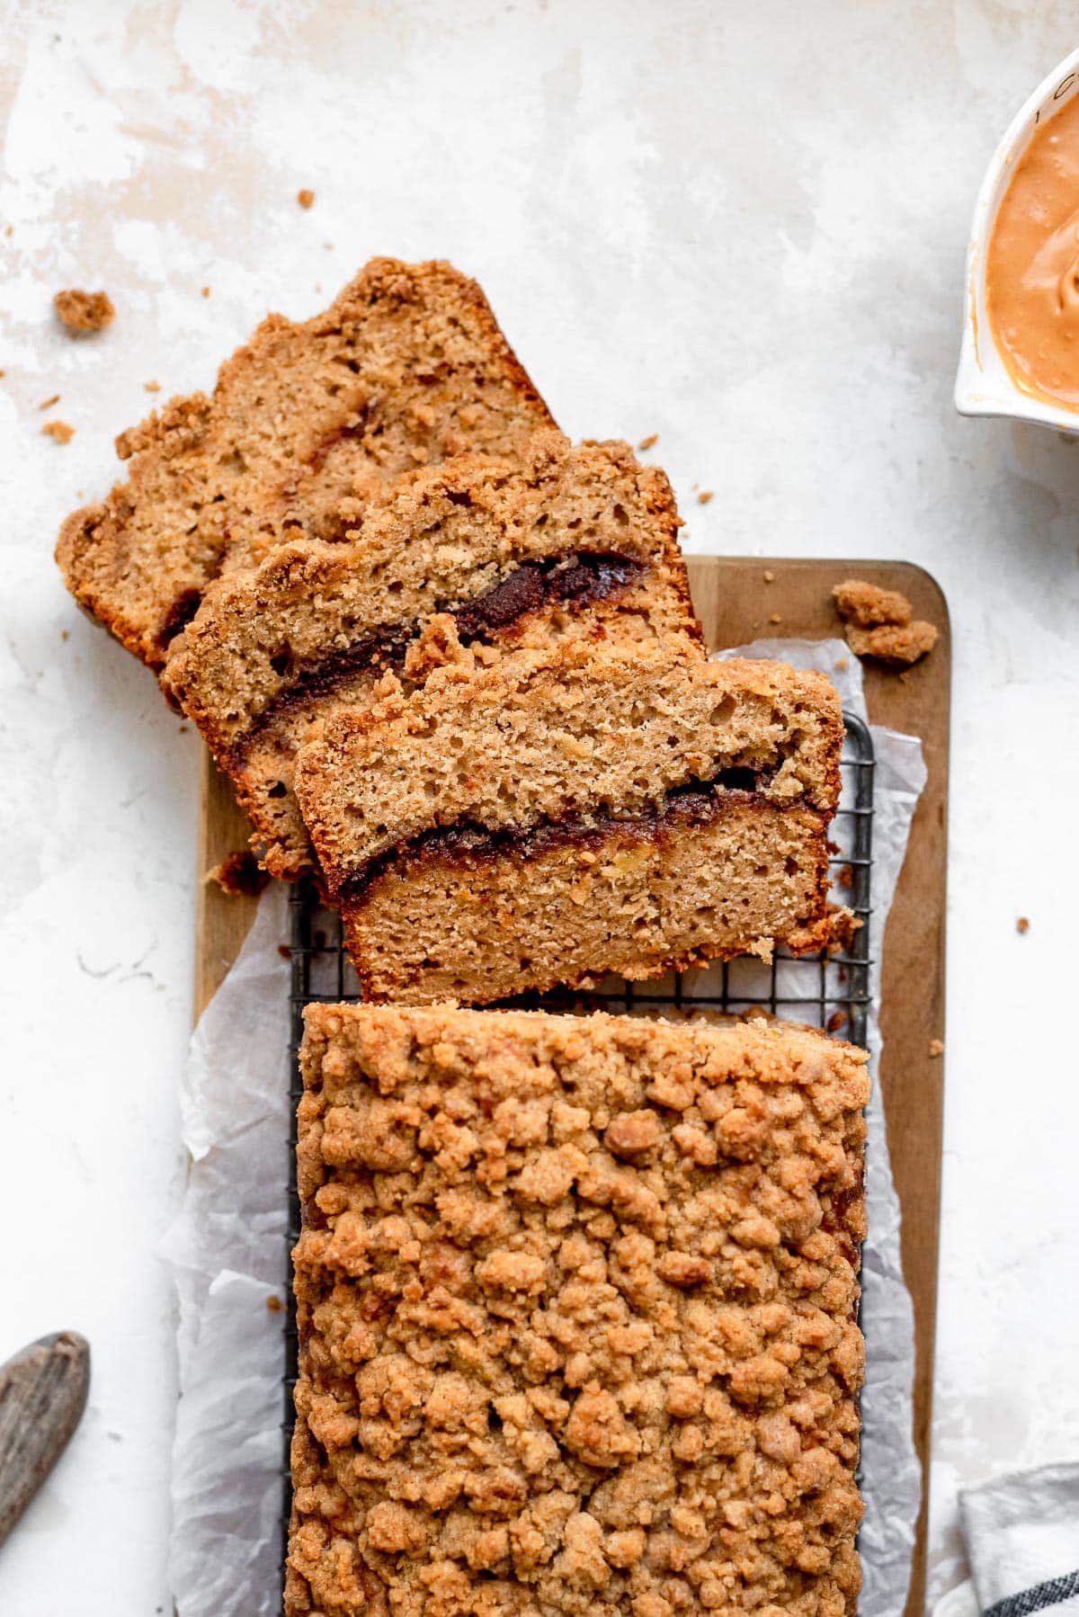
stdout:
POLYGON ((694 550, 904 556, 950 595, 943 1586, 958 1481, 1079 1452, 1079 1101, 1053 1015, 1079 897, 1079 445, 950 406, 980 170, 1074 8, 8 0, 0 19, 0 1352, 61 1324, 95 1350, 84 1426, 0 1554, 0 1611, 165 1602, 152 1248, 183 1177, 196 739, 76 616, 53 534, 108 485, 144 382, 209 385, 265 307, 314 312, 372 252, 476 273, 569 432, 658 432, 694 550), (70 343, 65 285, 108 288, 113 330, 70 343), (40 435, 53 393, 66 448, 40 435))

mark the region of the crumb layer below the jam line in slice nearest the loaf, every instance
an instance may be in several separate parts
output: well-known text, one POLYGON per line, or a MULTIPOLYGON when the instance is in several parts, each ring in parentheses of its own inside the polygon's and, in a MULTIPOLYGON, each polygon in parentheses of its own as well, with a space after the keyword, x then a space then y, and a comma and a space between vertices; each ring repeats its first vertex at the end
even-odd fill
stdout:
POLYGON ((689 792, 639 820, 445 833, 341 902, 364 999, 490 1004, 831 943, 827 815, 689 792))

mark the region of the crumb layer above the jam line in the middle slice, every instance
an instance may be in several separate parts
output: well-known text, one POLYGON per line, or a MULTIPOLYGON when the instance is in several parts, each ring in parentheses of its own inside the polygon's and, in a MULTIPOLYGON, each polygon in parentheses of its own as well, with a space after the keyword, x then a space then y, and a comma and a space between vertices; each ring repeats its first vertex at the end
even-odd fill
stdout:
POLYGON ((257 568, 214 581, 173 642, 162 687, 222 757, 304 676, 372 634, 411 640, 432 614, 485 595, 519 563, 574 550, 662 568, 678 627, 700 639, 679 527, 666 475, 641 466, 620 441, 574 446, 558 432, 542 432, 519 462, 459 454, 404 474, 346 543, 293 540, 257 568), (576 543, 578 534, 555 521, 556 538, 548 538, 561 485, 579 480, 568 496, 584 501, 589 480, 603 472, 616 480, 611 508, 636 495, 629 521, 597 514, 586 530, 594 543, 576 543), (516 517, 513 503, 521 508, 516 517), (471 522, 484 529, 479 545, 471 522))

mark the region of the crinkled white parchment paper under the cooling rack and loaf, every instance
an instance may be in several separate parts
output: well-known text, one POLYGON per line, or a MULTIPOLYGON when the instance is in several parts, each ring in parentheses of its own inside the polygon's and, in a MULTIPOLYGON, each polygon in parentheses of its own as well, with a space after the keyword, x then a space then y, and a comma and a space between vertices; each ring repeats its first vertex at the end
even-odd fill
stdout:
MULTIPOLYGON (((736 655, 733 652, 725 655, 736 655)), ((865 716, 861 666, 841 640, 760 640, 738 655, 820 668, 843 705, 865 716)), ((874 728, 872 954, 925 781, 920 744, 874 728)), ((288 1182, 288 988, 280 954, 286 894, 273 884, 231 972, 191 1040, 183 1134, 191 1176, 162 1253, 180 1295, 180 1412, 173 1446, 170 1581, 180 1617, 280 1612, 285 1460, 283 1298, 288 1182)), ((754 998, 747 967, 746 994, 754 998)), ((870 972, 872 1067, 880 1056, 880 965, 870 972)), ((741 990, 739 990, 741 991, 741 990)), ((920 1476, 914 1452, 914 1315, 899 1261, 883 1104, 869 1103, 864 1248, 861 1617, 903 1611, 920 1476)))

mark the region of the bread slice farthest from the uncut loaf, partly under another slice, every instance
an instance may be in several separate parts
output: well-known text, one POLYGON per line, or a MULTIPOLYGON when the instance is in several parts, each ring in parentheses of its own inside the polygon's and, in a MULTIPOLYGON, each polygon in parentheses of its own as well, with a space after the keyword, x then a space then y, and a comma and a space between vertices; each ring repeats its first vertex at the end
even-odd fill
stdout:
POLYGON ((403 472, 513 454, 550 425, 476 281, 372 259, 325 314, 269 315, 210 398, 121 433, 128 480, 66 519, 57 561, 76 600, 160 668, 223 569, 340 538, 403 472))

